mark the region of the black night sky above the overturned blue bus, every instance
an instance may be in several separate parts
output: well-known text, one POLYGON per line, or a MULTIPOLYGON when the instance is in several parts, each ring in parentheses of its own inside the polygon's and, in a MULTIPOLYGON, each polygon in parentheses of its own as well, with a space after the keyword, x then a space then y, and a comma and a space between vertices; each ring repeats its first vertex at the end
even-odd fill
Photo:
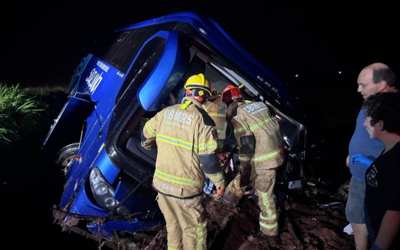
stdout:
POLYGON ((0 81, 65 86, 101 32, 178 11, 213 18, 305 99, 340 91, 358 98, 357 74, 372 62, 400 74, 396 8, 384 1, 195 2, 9 2, 0 14, 0 81))

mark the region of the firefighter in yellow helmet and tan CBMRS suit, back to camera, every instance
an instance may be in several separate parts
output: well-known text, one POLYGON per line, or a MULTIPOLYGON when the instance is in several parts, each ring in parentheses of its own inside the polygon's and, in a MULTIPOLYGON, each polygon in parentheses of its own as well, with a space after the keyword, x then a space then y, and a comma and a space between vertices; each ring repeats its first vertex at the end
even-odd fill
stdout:
POLYGON ((168 249, 206 249, 206 214, 202 204, 204 173, 219 197, 225 178, 218 164, 214 122, 201 104, 211 94, 203 74, 189 77, 181 104, 166 107, 149 119, 141 145, 157 147, 152 186, 164 215, 168 249))

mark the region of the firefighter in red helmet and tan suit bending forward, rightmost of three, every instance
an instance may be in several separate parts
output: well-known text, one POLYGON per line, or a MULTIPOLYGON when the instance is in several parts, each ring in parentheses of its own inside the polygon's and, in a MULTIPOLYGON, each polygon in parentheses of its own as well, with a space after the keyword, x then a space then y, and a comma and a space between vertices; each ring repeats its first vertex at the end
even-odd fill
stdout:
POLYGON ((229 183, 222 201, 236 203, 250 179, 254 201, 258 203, 260 230, 257 236, 278 233, 273 195, 275 168, 285 160, 284 143, 273 107, 243 98, 239 88, 228 85, 222 92, 227 106, 226 119, 238 145, 239 174, 229 183))

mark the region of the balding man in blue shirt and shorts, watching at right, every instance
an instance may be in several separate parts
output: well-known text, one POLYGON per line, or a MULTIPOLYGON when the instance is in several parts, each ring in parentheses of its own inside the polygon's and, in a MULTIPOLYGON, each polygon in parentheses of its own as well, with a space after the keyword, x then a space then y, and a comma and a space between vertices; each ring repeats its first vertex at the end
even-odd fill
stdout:
MULTIPOLYGON (((357 92, 366 99, 377 92, 395 92, 395 74, 386 64, 376 62, 364 67, 357 78, 357 92)), ((370 159, 375 159, 383 150, 384 144, 380 140, 371 139, 363 123, 365 121, 364 108, 361 107, 355 125, 354 133, 348 145, 349 155, 362 153, 370 159)), ((356 249, 366 249, 368 232, 364 221, 365 170, 360 163, 350 164, 346 158, 346 165, 352 175, 346 204, 346 218, 354 232, 356 249)))

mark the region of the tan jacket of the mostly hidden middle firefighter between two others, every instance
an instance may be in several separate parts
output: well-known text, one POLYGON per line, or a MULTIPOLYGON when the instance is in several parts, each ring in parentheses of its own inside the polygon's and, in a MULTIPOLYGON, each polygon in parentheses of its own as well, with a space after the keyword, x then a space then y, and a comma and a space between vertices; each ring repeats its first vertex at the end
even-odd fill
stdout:
POLYGON ((211 95, 207 101, 202 104, 204 110, 215 122, 216 132, 219 140, 225 139, 226 133, 226 108, 218 95, 211 95))

